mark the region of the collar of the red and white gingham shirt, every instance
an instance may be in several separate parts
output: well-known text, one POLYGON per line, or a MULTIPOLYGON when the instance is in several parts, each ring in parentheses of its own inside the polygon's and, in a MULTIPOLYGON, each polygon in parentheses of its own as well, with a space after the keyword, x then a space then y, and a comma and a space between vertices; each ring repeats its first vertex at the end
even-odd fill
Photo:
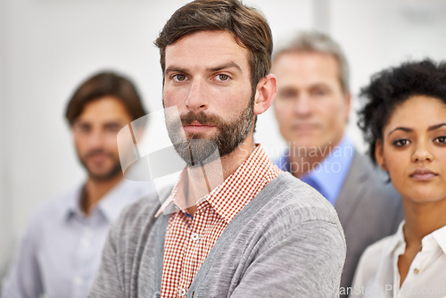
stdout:
MULTIPOLYGON (((219 186, 211 190, 211 193, 205 195, 198 201, 198 206, 200 207, 201 203, 207 201, 223 219, 230 222, 243 209, 244 205, 250 202, 252 197, 257 194, 244 192, 244 188, 249 185, 250 189, 257 189, 271 167, 273 167, 273 164, 269 160, 268 154, 265 153, 261 145, 257 145, 248 159, 234 173, 227 177, 219 186), (234 200, 234 196, 231 195, 233 193, 239 194, 237 195, 238 200, 234 200)), ((158 217, 163 211, 166 213, 168 208, 172 208, 175 205, 175 197, 178 195, 178 185, 182 180, 181 176, 183 173, 178 178, 178 182, 174 186, 169 198, 161 205, 155 217, 158 217)), ((179 210, 180 208, 178 206, 176 206, 175 210, 170 209, 170 211, 179 210)))

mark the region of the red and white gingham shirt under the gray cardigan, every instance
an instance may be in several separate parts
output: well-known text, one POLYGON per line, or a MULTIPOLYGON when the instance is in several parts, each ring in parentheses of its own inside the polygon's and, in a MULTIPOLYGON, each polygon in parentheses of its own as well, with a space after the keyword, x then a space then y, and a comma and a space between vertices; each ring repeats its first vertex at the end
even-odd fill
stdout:
MULTIPOLYGON (((164 243, 161 297, 186 296, 202 262, 229 222, 281 172, 261 145, 257 145, 233 174, 198 201, 194 218, 183 210, 170 215, 164 243)), ((169 204, 178 202, 176 195, 181 181, 178 180, 156 216, 169 204)))

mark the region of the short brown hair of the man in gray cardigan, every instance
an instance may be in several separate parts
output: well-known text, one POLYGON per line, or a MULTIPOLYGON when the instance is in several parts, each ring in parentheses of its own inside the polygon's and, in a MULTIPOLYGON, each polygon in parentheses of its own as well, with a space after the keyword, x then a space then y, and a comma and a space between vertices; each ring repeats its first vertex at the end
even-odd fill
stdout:
POLYGON ((238 0, 195 0, 179 8, 167 21, 155 41, 160 48, 161 69, 166 67, 166 46, 199 31, 226 30, 250 52, 252 90, 271 68, 271 29, 258 10, 238 0))

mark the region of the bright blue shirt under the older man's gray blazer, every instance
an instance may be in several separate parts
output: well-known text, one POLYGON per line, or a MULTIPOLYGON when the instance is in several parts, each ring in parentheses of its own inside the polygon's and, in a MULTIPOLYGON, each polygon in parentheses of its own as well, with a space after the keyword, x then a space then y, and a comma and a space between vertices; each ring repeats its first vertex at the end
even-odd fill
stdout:
MULTIPOLYGON (((328 150, 328 149, 327 149, 328 150)), ((313 170, 305 173, 301 180, 313 186, 335 206, 337 197, 343 188, 343 182, 350 170, 355 149, 349 137, 344 136, 338 145, 329 150, 328 156, 313 170)), ((290 171, 289 149, 277 160, 277 167, 290 171)))

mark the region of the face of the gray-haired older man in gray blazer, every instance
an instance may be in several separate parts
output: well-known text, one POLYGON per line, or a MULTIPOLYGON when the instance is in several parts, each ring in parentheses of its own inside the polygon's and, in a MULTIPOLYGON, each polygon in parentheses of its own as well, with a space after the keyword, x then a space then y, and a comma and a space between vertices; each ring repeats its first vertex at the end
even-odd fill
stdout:
POLYGON ((343 93, 335 57, 279 54, 272 72, 277 76, 274 108, 285 140, 301 147, 337 145, 348 120, 350 95, 343 93))

